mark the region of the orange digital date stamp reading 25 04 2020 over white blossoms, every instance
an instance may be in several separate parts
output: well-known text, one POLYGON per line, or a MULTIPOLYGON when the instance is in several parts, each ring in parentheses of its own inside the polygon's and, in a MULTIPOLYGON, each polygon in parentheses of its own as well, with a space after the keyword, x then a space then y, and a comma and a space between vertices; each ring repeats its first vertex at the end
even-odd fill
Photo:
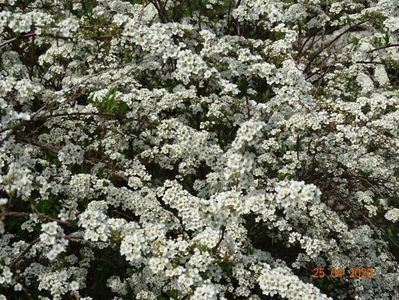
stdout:
POLYGON ((325 277, 331 278, 349 278, 349 279, 365 279, 365 278, 373 278, 374 269, 370 267, 356 267, 349 268, 349 272, 345 272, 345 269, 342 267, 331 268, 331 270, 326 270, 323 267, 316 267, 312 269, 312 278, 313 279, 323 279, 325 277))

